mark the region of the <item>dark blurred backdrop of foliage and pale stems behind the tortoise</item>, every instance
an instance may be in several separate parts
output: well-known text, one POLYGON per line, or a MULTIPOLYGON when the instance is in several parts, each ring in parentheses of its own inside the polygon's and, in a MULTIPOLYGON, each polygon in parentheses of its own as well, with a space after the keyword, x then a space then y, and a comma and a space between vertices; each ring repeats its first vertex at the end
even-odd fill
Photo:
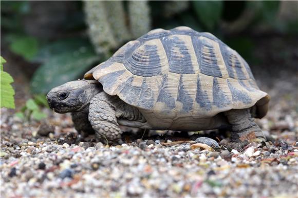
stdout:
POLYGON ((297 85, 298 2, 93 4, 1 1, 1 55, 7 60, 4 70, 15 80, 16 107, 31 94, 82 78, 128 40, 177 26, 211 32, 227 43, 247 60, 265 91, 279 79, 290 79, 289 90, 282 85, 281 92, 297 85), (115 9, 123 12, 121 20, 115 9), (92 25, 97 32, 88 33, 92 25))

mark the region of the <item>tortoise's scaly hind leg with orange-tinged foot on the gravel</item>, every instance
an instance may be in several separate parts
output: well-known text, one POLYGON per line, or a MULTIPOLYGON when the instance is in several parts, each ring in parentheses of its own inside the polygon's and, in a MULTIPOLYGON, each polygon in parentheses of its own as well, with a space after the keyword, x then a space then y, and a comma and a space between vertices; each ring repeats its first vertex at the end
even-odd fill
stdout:
POLYGON ((254 122, 249 109, 232 109, 225 112, 232 125, 232 140, 236 142, 263 142, 266 138, 254 122))

